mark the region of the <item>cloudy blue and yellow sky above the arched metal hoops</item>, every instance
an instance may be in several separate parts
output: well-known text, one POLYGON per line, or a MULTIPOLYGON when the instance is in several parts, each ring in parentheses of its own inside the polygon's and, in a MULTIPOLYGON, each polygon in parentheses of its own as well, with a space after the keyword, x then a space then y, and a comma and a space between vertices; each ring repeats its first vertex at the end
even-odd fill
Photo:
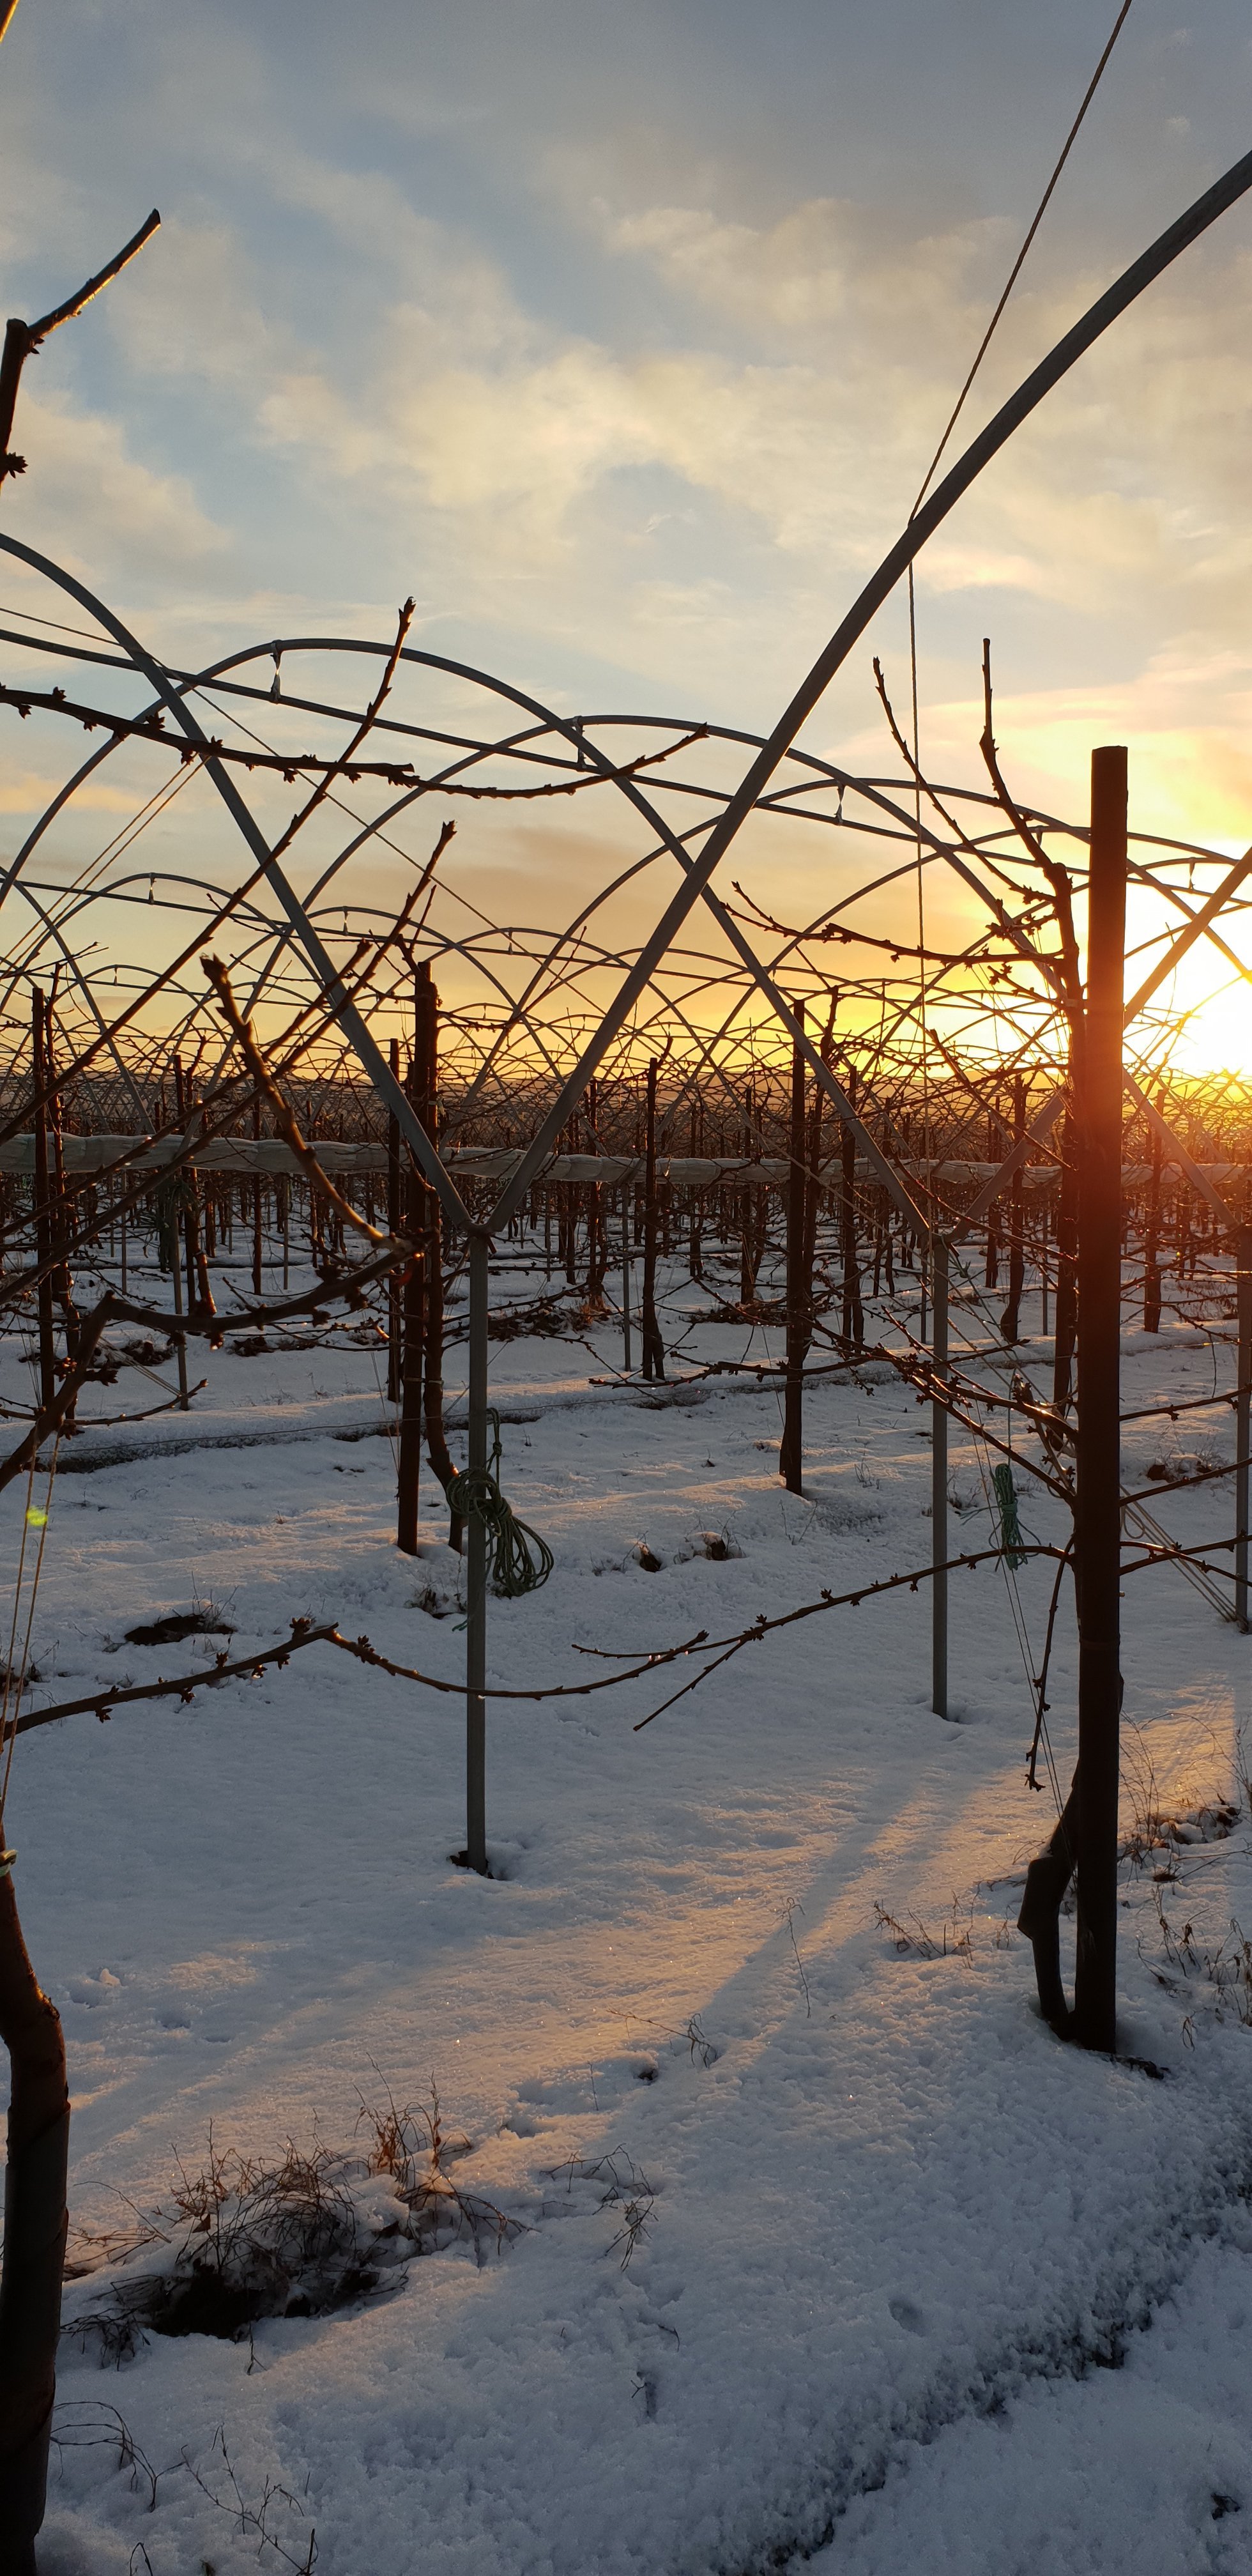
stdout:
MULTIPOLYGON (((178 659, 412 592, 420 641, 564 711, 765 732, 909 513, 1113 15, 21 0, 5 309, 162 229, 28 366, 5 526, 178 659)), ((969 430, 1249 106, 1237 0, 1133 0, 969 430)), ((1082 814, 1123 739, 1146 829, 1252 837, 1249 309, 1252 198, 930 544, 933 773, 979 773, 992 634, 1023 793, 1082 814)), ((806 739, 891 768, 873 649, 904 696, 899 598, 806 739)))

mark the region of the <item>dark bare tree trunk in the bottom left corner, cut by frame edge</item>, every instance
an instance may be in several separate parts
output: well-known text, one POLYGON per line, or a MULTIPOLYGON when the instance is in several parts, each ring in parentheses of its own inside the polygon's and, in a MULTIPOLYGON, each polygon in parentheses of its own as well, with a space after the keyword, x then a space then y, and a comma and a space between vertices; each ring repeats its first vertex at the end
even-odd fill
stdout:
POLYGON ((0 2040, 10 2058, 0 2277, 0 2576, 33 2576, 57 2393, 70 2092, 62 2022, 26 1955, 10 1870, 5 1862, 0 1878, 0 2040))

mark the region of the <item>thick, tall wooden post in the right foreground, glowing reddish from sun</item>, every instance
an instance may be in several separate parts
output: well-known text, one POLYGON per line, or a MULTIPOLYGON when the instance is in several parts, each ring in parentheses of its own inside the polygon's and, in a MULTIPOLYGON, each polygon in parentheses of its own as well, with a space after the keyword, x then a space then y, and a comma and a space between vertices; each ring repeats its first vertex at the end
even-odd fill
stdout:
POLYGON ((1126 750, 1092 752, 1079 1064, 1077 1489, 1079 1814, 1074 2038, 1113 2053, 1121 1736, 1121 1033, 1126 750))

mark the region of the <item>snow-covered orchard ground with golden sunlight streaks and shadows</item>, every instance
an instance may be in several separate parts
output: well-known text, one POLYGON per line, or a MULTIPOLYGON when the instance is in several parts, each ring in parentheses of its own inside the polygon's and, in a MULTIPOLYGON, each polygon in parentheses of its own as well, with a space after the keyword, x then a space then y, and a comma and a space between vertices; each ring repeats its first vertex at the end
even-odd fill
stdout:
MULTIPOLYGON (((675 1298, 706 1306, 678 1273, 675 1298)), ((621 1355, 593 1340, 492 1347, 505 1492, 556 1551, 544 1592, 492 1602, 492 1682, 585 1680, 574 1646, 729 1633, 927 1561, 927 1414, 881 1370, 809 1391, 791 1497, 773 1388, 644 1401, 590 1383, 621 1355)), ((745 1347, 701 1324, 685 1358, 745 1347)), ((1043 1342, 1025 1365, 1046 1386, 1043 1342)), ((1126 1409, 1231 1378, 1182 1327, 1126 1340, 1126 1409)), ((232 1654, 309 1613, 456 1677, 459 1569, 430 1484, 422 1556, 397 1556, 381 1422, 376 1355, 340 1337, 227 1347, 191 1422, 75 1443, 33 1700, 193 1669, 227 1638, 126 1631, 196 1605, 232 1654)), ((1126 1471, 1231 1440, 1224 1406, 1144 1419, 1126 1471)), ((953 1543, 987 1546, 987 1461, 953 1435, 951 1463, 953 1543)), ((1231 1484, 1157 1517, 1221 1538, 1231 1484)), ((1028 1659, 1051 1579, 1018 1579, 1028 1659)), ((459 2190, 515 2223, 242 2342, 147 2336, 100 2367, 67 2336, 46 2576, 307 2566, 312 2535, 322 2576, 1249 2566, 1252 1643, 1172 1569, 1131 1577, 1123 1618, 1126 1826, 1180 1821, 1126 1865, 1123 2063, 1038 2022, 1012 1929, 1054 1803, 1023 1785, 997 1566, 953 1577, 953 1723, 925 1584, 750 1646, 641 1734, 672 1677, 495 1703, 489 1880, 448 1862, 456 1698, 332 1651, 21 1739, 8 1834, 64 2014, 75 2228, 167 2210, 209 2136, 350 2156, 361 2099, 430 2081, 471 2141, 459 2190), (1229 1834, 1200 1814, 1221 1798, 1229 1834)), ((1067 1780, 1069 1605, 1051 1734, 1067 1780)), ((72 2282, 70 2321, 155 2259, 72 2282)))

